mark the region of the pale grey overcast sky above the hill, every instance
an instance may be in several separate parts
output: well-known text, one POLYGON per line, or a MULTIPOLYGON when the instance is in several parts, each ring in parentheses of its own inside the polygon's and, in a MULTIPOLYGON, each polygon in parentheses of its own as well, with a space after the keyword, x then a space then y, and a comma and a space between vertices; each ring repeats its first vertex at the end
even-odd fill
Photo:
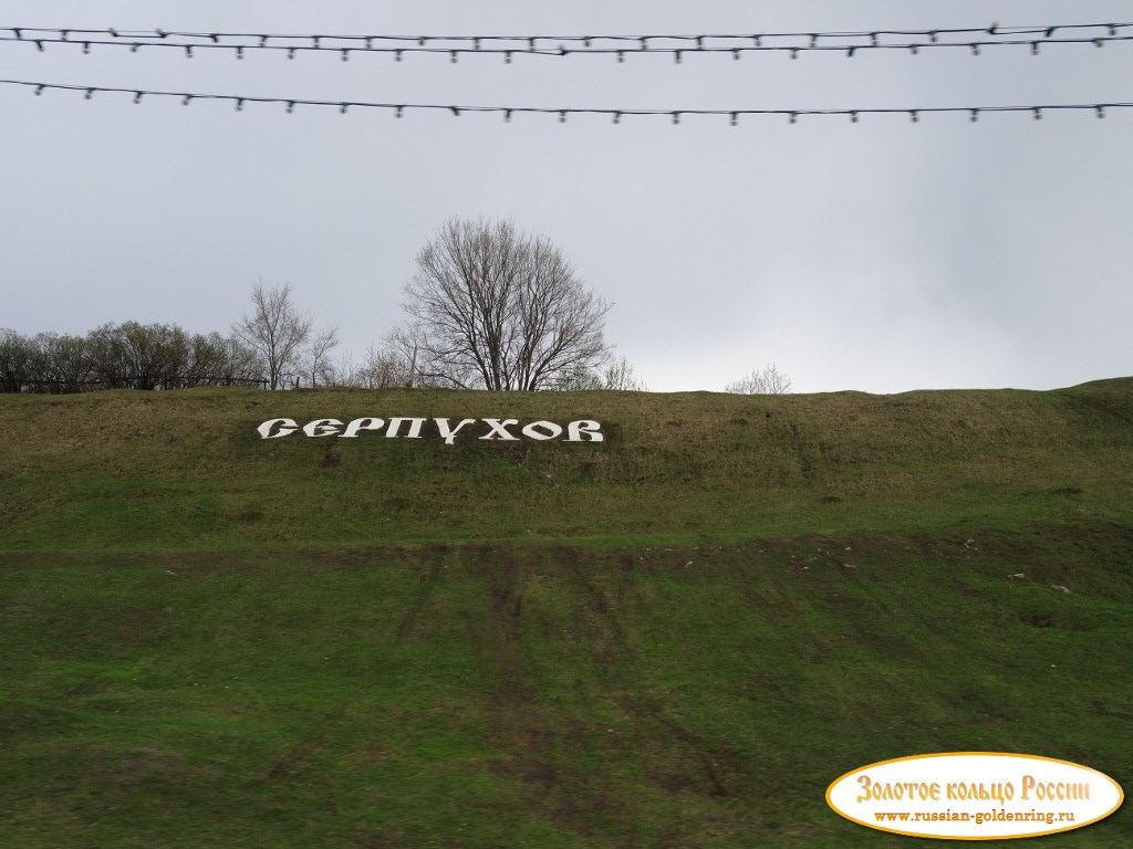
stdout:
MULTIPOLYGON (((86 100, 0 85, 0 327, 85 333, 133 319, 227 332, 263 280, 291 283, 316 325, 338 325, 339 352, 358 359, 399 320, 419 248, 445 218, 483 215, 562 248, 614 302, 608 337, 658 392, 719 391, 772 362, 798 392, 1045 389, 1133 374, 1133 109, 1105 120, 1093 110, 1041 120, 983 112, 977 122, 968 112, 917 122, 868 112, 1130 103, 1133 41, 1043 44, 1037 55, 1029 45, 795 60, 689 52, 678 63, 664 50, 674 42, 654 40, 621 63, 608 53, 517 53, 509 65, 495 53, 342 61, 330 49, 291 60, 250 48, 242 60, 204 48, 191 60, 156 46, 95 44, 84 54, 79 44, 41 51, 35 36, 5 29, 506 35, 556 48, 555 36, 571 35, 1133 23, 1124 0, 8 0, 0 15, 5 80, 551 110, 505 123, 410 108, 398 120, 358 106, 299 104, 289 114, 282 103, 237 111, 231 101, 135 104, 129 93, 86 100), (696 114, 678 126, 668 114, 561 122, 557 110, 573 109, 862 113, 795 125, 743 115, 734 127, 696 114)), ((753 42, 706 42, 725 44, 753 42)))

